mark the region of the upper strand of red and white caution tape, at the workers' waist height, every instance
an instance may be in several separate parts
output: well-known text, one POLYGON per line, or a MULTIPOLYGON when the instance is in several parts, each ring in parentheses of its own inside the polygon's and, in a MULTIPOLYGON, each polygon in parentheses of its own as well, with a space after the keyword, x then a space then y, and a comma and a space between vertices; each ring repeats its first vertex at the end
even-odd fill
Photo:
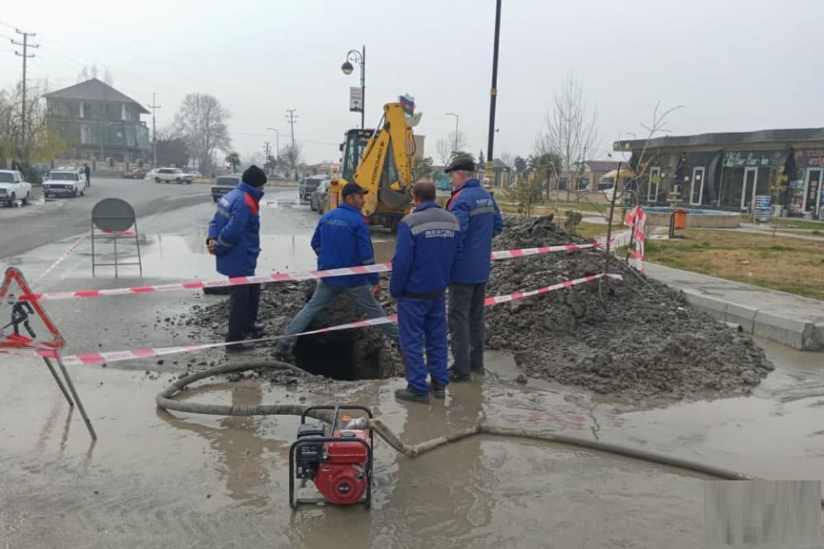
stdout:
MULTIPOLYGON (((617 236, 610 241, 617 240, 617 236)), ((548 254, 550 252, 569 252, 576 249, 598 248, 604 243, 593 244, 564 244, 560 246, 544 246, 541 248, 509 249, 493 252, 491 258, 495 261, 509 258, 522 258, 536 254, 548 254)), ((132 295, 147 294, 157 291, 180 291, 199 290, 201 288, 220 286, 242 286, 245 284, 260 284, 264 282, 287 282, 305 281, 313 279, 323 279, 330 277, 342 277, 347 275, 363 275, 376 272, 391 272, 391 263, 377 263, 374 265, 362 265, 358 267, 344 267, 337 269, 325 269, 323 271, 311 271, 302 273, 273 272, 268 276, 260 277, 232 277, 221 278, 211 281, 189 281, 176 284, 162 284, 160 286, 133 286, 129 288, 110 288, 108 290, 82 290, 82 291, 53 291, 39 294, 18 295, 5 298, 7 301, 40 301, 40 300, 67 300, 77 297, 101 297, 108 295, 132 295)))

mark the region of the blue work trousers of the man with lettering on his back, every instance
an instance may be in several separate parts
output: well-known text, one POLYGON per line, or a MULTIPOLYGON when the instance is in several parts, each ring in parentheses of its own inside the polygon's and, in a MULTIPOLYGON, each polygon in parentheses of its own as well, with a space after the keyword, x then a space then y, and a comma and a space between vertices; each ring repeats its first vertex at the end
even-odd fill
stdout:
POLYGON ((398 300, 398 330, 410 387, 428 394, 427 371, 435 383, 446 387, 449 384, 446 299, 443 296, 401 297, 398 300))

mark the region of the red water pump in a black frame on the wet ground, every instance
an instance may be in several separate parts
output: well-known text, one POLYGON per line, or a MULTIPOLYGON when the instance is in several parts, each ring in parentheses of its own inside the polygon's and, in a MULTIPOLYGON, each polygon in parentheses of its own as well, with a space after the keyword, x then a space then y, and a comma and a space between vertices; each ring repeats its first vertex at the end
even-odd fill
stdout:
POLYGON ((289 505, 296 508, 302 503, 372 505, 372 429, 367 417, 349 419, 340 426, 341 412, 358 410, 372 418, 368 407, 345 404, 311 406, 303 412, 297 427, 297 440, 289 449, 289 505), (329 427, 321 423, 307 423, 312 411, 334 411, 329 427), (297 497, 295 481, 315 482, 323 499, 297 497))

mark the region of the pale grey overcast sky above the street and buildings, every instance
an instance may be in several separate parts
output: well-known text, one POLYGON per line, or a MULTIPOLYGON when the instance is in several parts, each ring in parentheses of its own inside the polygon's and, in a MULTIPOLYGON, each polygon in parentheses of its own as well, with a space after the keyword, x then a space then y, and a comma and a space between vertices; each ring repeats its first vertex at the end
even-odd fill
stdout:
MULTIPOLYGON (((366 44, 366 119, 409 93, 423 111, 415 133, 426 154, 460 115, 461 132, 486 154, 494 0, 268 0, 251 2, 3 2, 0 86, 21 77, 9 26, 37 33, 29 77, 70 86, 84 65, 108 67, 114 85, 143 105, 157 92, 158 126, 192 91, 232 111, 234 148, 295 139, 305 160, 335 161, 349 113, 349 49, 366 44), (5 44, 5 45, 4 45, 5 44)), ((619 134, 662 106, 675 134, 822 126, 822 0, 503 0, 495 156, 527 156, 569 71, 598 109, 605 158, 619 134)), ((144 117, 149 123, 151 117, 144 117)))

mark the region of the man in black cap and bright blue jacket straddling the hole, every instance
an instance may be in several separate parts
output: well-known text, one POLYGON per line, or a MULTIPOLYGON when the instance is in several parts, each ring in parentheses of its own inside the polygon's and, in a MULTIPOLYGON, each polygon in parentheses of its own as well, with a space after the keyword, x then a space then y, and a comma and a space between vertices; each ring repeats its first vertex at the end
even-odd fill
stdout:
MULTIPOLYGON (((311 247, 317 254, 319 271, 375 263, 369 226, 361 213, 365 202, 363 195, 366 193, 368 190, 357 183, 345 184, 340 192, 344 202, 321 216, 315 235, 311 239, 311 247)), ((386 316, 386 311, 376 299, 381 294, 377 272, 324 278, 317 282, 311 300, 289 323, 283 335, 301 333, 326 305, 341 294, 349 295, 349 298, 363 309, 370 319, 386 316)), ((378 328, 381 328, 383 333, 386 333, 393 341, 398 341, 398 328, 395 324, 380 324, 378 328)), ((292 352, 294 343, 292 337, 280 340, 279 353, 287 356, 292 352)))

